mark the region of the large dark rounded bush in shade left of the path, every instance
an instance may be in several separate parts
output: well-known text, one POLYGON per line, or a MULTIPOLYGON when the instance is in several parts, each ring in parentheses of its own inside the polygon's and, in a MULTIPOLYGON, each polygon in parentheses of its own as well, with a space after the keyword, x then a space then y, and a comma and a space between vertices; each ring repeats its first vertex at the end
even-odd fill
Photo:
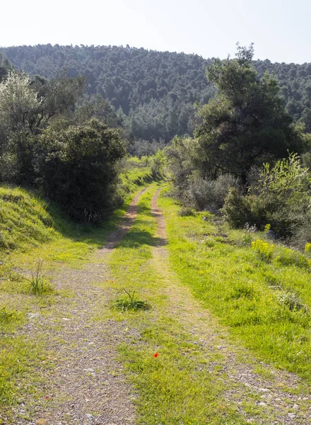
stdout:
POLYGON ((93 119, 57 123, 40 135, 37 184, 69 216, 99 223, 117 203, 117 162, 125 154, 119 132, 93 119))

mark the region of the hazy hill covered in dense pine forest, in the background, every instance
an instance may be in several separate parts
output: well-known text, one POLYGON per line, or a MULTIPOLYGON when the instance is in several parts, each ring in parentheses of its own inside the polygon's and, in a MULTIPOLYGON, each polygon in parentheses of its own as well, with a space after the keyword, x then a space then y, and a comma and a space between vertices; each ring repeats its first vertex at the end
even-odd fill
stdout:
MULTIPOLYGON (((155 52, 117 46, 36 45, 1 49, 18 69, 42 77, 88 78, 88 94, 108 98, 128 135, 168 142, 174 135, 192 134, 194 104, 206 103, 215 89, 206 79, 205 60, 198 55, 155 52)), ((311 122, 311 63, 254 62, 259 76, 275 74, 289 113, 311 122)))

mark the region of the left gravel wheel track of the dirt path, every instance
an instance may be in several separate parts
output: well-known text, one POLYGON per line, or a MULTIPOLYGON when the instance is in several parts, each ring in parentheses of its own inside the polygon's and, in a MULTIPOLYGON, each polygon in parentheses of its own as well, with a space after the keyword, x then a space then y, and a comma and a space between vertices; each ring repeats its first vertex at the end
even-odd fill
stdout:
POLYGON ((45 397, 36 405, 31 399, 21 403, 14 412, 14 425, 135 423, 131 389, 120 373, 122 365, 116 361, 115 348, 122 342, 121 327, 113 320, 105 325, 94 322, 96 306, 107 305, 109 294, 92 283, 108 278, 107 256, 129 231, 145 190, 134 198, 119 227, 90 265, 83 270, 65 270, 54 277, 57 289, 74 295, 61 298, 47 316, 35 314, 22 330, 26 339, 45 336, 54 369, 47 375, 47 382, 38 384, 45 397))

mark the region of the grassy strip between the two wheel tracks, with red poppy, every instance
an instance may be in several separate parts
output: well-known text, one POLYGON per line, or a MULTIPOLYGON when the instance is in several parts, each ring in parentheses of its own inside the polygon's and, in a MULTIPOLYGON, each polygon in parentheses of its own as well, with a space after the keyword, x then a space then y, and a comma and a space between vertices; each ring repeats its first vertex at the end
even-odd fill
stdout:
POLYGON ((116 290, 136 290, 137 297, 153 309, 112 311, 102 317, 124 321, 127 343, 119 347, 119 353, 138 390, 137 424, 247 424, 236 407, 222 397, 222 372, 209 370, 209 361, 194 336, 168 312, 168 298, 161 291, 165 282, 152 261, 153 246, 160 242, 150 210, 155 189, 153 186, 143 195, 133 227, 112 253, 114 283, 109 283, 116 290))

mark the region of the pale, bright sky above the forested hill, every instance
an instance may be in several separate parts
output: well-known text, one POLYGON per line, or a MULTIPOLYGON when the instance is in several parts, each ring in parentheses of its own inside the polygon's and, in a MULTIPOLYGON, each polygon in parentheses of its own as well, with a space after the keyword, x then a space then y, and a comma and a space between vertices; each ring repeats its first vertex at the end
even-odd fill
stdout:
POLYGON ((311 0, 5 0, 0 46, 127 45, 234 55, 254 42, 255 57, 311 62, 311 0))

